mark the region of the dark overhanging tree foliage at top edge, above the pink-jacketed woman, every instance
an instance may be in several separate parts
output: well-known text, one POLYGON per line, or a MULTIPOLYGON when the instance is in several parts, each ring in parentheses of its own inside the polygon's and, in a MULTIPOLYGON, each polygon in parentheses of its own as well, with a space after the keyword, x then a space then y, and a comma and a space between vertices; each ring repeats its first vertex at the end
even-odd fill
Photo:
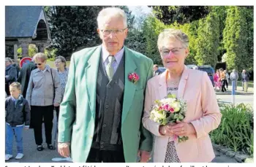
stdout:
POLYGON ((153 12, 162 23, 191 23, 205 18, 209 7, 206 6, 153 6, 153 12))

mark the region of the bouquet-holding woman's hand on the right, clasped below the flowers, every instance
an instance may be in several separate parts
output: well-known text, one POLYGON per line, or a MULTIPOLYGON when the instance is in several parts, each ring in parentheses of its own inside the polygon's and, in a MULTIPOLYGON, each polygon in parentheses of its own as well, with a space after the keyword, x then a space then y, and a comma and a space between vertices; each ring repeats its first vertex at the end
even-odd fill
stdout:
POLYGON ((177 123, 170 128, 170 131, 177 136, 188 136, 196 133, 192 123, 177 123))

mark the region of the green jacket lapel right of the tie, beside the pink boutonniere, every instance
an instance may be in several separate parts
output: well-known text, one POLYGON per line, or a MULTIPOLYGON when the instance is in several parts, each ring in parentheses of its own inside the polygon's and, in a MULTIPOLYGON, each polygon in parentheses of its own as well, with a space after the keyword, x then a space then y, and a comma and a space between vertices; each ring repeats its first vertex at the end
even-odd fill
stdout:
POLYGON ((121 123, 124 123, 125 118, 129 112, 129 109, 132 105, 133 97, 135 95, 135 84, 130 82, 128 79, 129 73, 135 72, 137 66, 135 60, 133 59, 134 55, 131 53, 127 47, 124 47, 125 53, 125 62, 124 62, 124 103, 123 103, 123 112, 121 123))

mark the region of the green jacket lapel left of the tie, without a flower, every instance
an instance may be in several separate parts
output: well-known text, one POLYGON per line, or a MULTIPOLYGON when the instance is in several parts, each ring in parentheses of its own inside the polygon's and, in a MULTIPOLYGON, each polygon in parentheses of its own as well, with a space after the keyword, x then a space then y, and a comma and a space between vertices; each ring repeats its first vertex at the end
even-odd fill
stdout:
POLYGON ((96 50, 92 53, 88 60, 88 66, 86 66, 86 90, 87 93, 85 96, 88 96, 89 106, 91 109, 91 114, 95 119, 95 101, 96 101, 96 87, 97 87, 97 74, 99 69, 99 60, 101 55, 102 47, 97 47, 96 50))

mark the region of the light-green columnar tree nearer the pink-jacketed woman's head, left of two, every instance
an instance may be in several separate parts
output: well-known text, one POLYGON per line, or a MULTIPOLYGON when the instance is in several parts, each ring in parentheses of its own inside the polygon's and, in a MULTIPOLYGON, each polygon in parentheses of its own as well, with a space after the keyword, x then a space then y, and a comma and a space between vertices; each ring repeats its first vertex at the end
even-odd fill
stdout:
POLYGON ((196 45, 197 65, 215 67, 219 48, 219 17, 215 12, 210 12, 206 18, 199 20, 196 45))

